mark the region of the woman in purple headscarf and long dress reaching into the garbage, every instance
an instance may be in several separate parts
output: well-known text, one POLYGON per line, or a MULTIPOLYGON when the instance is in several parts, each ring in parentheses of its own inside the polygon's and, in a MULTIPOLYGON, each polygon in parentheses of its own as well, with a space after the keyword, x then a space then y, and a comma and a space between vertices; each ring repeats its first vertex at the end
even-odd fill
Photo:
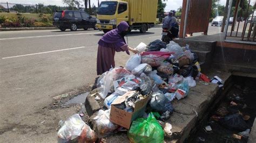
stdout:
POLYGON ((130 55, 130 50, 134 54, 138 53, 125 42, 124 36, 128 30, 129 25, 126 22, 121 22, 116 29, 107 32, 100 38, 97 54, 97 75, 101 75, 115 66, 114 54, 116 52, 125 51, 130 55))

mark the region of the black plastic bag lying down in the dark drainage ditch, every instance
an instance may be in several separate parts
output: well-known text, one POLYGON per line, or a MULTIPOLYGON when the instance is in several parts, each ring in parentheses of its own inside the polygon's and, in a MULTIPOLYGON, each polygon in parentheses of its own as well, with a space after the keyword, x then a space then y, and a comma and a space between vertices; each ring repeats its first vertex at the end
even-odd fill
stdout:
POLYGON ((241 115, 237 114, 233 114, 233 115, 228 115, 225 116, 225 118, 220 119, 220 124, 230 128, 231 130, 237 130, 239 132, 241 131, 245 131, 246 129, 250 128, 245 120, 242 118, 241 115))

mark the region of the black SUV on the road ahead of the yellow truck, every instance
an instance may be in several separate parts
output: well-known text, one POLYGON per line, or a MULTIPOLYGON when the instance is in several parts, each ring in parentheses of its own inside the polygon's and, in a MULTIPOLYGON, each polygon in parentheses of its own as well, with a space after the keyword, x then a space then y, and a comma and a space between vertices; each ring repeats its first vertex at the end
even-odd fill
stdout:
POLYGON ((84 30, 94 28, 97 30, 96 23, 96 18, 92 18, 83 11, 63 10, 56 11, 53 15, 53 25, 61 31, 65 31, 68 28, 71 31, 76 31, 78 28, 84 28, 84 30))

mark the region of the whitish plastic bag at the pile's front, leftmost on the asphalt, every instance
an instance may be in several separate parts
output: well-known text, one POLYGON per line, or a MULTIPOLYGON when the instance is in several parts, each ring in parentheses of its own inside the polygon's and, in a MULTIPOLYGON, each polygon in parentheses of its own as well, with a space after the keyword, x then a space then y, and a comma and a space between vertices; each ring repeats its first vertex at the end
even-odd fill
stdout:
POLYGON ((64 125, 58 131, 58 137, 65 141, 77 138, 82 133, 85 123, 79 114, 73 115, 65 121, 64 125))

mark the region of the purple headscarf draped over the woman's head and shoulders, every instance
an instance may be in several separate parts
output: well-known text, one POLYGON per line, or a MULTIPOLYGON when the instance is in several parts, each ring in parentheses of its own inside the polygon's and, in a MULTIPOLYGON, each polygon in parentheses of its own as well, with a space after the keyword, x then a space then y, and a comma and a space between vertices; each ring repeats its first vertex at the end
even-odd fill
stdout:
POLYGON ((107 32, 100 39, 107 43, 125 42, 124 37, 122 37, 120 33, 125 31, 127 28, 129 28, 129 24, 126 22, 120 22, 116 29, 107 32))

